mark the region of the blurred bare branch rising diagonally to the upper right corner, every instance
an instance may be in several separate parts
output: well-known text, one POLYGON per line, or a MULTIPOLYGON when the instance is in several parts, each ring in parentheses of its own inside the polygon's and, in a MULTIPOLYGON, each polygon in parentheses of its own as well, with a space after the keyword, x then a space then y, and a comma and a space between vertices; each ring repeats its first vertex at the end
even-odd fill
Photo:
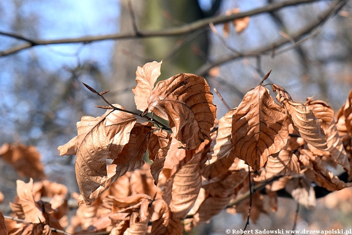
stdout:
MULTIPOLYGON (((332 12, 338 11, 346 2, 347 2, 347 0, 338 0, 337 2, 332 4, 327 10, 325 10, 317 19, 315 19, 314 21, 311 21, 305 27, 303 27, 300 30, 296 31, 295 33, 291 34, 290 37, 294 40, 298 40, 302 36, 310 33, 314 28, 325 23, 327 21, 327 19, 330 17, 330 14, 332 12)), ((206 76, 207 72, 215 66, 220 66, 226 62, 240 59, 243 57, 257 57, 259 55, 269 55, 272 53, 272 51, 275 51, 275 49, 277 47, 282 47, 288 42, 290 42, 290 41, 287 40, 286 38, 280 38, 279 40, 277 40, 273 43, 270 43, 268 45, 265 45, 263 47, 259 47, 257 49, 251 50, 251 51, 244 52, 241 55, 235 54, 235 55, 225 56, 225 57, 220 58, 211 64, 203 65, 195 73, 200 76, 206 76)), ((296 44, 294 46, 296 46, 296 44)), ((294 47, 290 47, 290 49, 293 49, 293 48, 294 47)))

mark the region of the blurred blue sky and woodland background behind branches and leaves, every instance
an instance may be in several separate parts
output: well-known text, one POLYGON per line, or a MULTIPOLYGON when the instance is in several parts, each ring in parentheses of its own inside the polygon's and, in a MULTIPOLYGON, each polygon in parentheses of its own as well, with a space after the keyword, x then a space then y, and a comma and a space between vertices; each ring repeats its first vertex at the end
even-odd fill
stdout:
MULTIPOLYGON (((263 7, 282 0, 131 0, 135 24, 141 30, 182 26, 207 17, 263 7)), ((268 82, 283 86, 292 99, 305 102, 308 96, 327 101, 337 111, 352 88, 352 2, 331 14, 318 30, 295 44, 295 35, 327 10, 332 1, 284 7, 272 13, 251 16, 242 32, 223 24, 177 37, 134 38, 91 43, 37 46, 0 56, 0 145, 21 142, 38 148, 47 178, 78 191, 74 177, 74 156, 60 157, 57 147, 76 136, 76 122, 84 115, 100 116, 105 105, 81 82, 99 92, 110 90, 106 98, 136 111, 132 88, 137 66, 163 61, 160 79, 180 72, 203 75, 217 88, 230 108, 256 87, 272 70, 268 82), (226 37, 226 34, 228 36, 226 37), (286 39, 283 47, 276 43, 286 39), (266 53, 252 53, 269 48, 266 53), (275 48, 271 49, 270 48, 275 48), (221 63, 220 63, 221 62, 221 63), (63 174, 65 172, 65 174, 63 174)), ((127 0, 1 0, 0 32, 29 39, 61 39, 133 32, 127 0)), ((298 40, 296 40, 298 41, 298 40)), ((23 43, 0 34, 0 51, 23 43)), ((227 112, 214 95, 217 116, 227 112)), ((16 195, 21 178, 0 160, 0 191, 8 202, 16 195)), ((23 177, 22 177, 23 179, 23 177)), ((317 201, 317 207, 301 207, 297 229, 350 229, 352 192, 343 189, 317 201)), ((281 198, 276 213, 261 214, 248 229, 291 229, 296 203, 281 198)), ((226 228, 243 229, 242 215, 220 213, 198 234, 224 234, 226 228), (227 226, 227 227, 226 227, 227 226), (230 227, 229 227, 230 226, 230 227)))

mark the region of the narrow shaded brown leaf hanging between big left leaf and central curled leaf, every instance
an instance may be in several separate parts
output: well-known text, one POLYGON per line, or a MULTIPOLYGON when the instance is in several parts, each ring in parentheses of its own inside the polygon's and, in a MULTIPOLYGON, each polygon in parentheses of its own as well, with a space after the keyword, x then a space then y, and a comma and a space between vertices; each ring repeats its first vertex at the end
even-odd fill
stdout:
POLYGON ((164 167, 165 157, 170 149, 171 134, 164 130, 157 130, 151 135, 148 143, 149 159, 153 161, 151 173, 154 184, 159 182, 159 174, 164 167))

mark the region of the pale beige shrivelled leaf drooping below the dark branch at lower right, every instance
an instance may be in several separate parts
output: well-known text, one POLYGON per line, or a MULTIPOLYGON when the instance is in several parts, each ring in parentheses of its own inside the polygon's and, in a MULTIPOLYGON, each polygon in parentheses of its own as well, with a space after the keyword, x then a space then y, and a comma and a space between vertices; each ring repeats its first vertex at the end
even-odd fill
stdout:
POLYGON ((307 209, 312 209, 316 205, 315 191, 305 178, 295 178, 289 181, 285 190, 291 194, 292 198, 307 209))

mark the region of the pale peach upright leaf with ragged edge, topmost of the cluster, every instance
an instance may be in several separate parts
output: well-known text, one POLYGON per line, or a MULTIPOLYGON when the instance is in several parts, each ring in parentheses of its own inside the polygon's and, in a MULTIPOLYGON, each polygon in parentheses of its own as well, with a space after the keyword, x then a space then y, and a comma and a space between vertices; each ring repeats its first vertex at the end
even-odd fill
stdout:
POLYGON ((145 64, 142 68, 137 67, 136 71, 136 82, 137 86, 132 89, 134 93, 134 102, 137 109, 145 111, 148 108, 148 98, 154 88, 156 79, 160 76, 160 67, 162 61, 159 63, 156 61, 145 64))

